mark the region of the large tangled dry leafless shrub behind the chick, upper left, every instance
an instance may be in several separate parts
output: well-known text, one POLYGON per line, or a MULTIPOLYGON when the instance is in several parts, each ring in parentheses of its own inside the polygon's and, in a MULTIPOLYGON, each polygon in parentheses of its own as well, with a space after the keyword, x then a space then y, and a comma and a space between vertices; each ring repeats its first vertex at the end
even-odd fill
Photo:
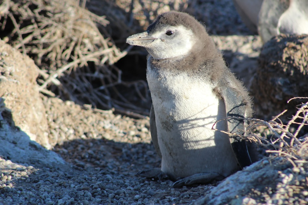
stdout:
POLYGON ((95 108, 144 114, 116 87, 132 87, 141 100, 146 98, 146 83, 122 81, 122 71, 114 65, 131 47, 120 51, 104 30, 109 21, 86 10, 85 2, 5 0, 0 5, 0 27, 9 33, 5 40, 39 66, 42 93, 95 108))

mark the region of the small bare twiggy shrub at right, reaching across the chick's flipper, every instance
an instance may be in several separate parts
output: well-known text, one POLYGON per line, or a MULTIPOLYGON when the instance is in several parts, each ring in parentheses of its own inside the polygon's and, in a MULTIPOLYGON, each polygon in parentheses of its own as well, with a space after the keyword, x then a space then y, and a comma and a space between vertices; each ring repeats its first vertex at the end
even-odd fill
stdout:
MULTIPOLYGON (((308 97, 295 97, 290 99, 288 103, 296 99, 308 99, 308 97)), ((295 167, 296 163, 308 163, 308 133, 299 136, 303 128, 308 126, 308 101, 302 103, 297 109, 298 111, 287 124, 283 124, 279 119, 287 110, 281 112, 270 121, 241 117, 228 117, 222 120, 249 120, 250 124, 246 127, 245 134, 241 137, 264 146, 267 148, 266 152, 277 156, 286 156, 295 167), (263 132, 259 132, 260 127, 263 127, 263 132), (269 132, 265 133, 266 131, 269 132), (269 138, 268 136, 270 135, 272 137, 269 138)), ((232 136, 231 133, 224 133, 232 136)))

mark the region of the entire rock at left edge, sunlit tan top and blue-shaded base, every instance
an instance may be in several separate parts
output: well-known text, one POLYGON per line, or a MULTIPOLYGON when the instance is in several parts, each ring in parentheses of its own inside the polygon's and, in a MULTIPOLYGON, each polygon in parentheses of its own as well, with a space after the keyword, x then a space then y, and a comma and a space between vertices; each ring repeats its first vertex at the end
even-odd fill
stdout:
POLYGON ((0 156, 13 163, 68 168, 59 155, 45 149, 51 146, 34 62, 0 41, 0 73, 0 156))

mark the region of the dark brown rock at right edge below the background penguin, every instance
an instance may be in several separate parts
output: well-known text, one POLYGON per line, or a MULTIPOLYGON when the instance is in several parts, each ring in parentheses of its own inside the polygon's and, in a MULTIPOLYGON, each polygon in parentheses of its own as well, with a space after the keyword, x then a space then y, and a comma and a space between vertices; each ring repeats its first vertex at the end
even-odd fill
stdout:
POLYGON ((263 46, 258 63, 250 85, 255 117, 271 120, 288 109, 280 118, 286 122, 301 102, 293 100, 287 104, 287 101, 308 96, 308 35, 274 37, 263 46))

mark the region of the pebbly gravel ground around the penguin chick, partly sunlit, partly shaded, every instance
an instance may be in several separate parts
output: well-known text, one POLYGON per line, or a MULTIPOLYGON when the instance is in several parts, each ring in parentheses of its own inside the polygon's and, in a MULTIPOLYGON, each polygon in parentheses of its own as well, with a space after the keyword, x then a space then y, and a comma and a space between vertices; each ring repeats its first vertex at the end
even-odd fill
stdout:
MULTIPOLYGON (((206 2, 206 10, 215 6, 206 2)), ((217 4, 221 10, 211 10, 204 21, 211 34, 218 34, 213 39, 224 50, 227 64, 248 85, 261 40, 249 35, 232 1, 221 2, 217 4), (226 16, 230 18, 222 18, 226 16), (237 28, 242 35, 230 35, 238 34, 237 28)), ((176 189, 170 180, 136 177, 140 170, 160 167, 148 117, 136 120, 112 111, 83 109, 58 98, 43 97, 43 102, 53 151, 67 164, 46 167, 0 158, 0 205, 191 204, 221 183, 176 189)))

